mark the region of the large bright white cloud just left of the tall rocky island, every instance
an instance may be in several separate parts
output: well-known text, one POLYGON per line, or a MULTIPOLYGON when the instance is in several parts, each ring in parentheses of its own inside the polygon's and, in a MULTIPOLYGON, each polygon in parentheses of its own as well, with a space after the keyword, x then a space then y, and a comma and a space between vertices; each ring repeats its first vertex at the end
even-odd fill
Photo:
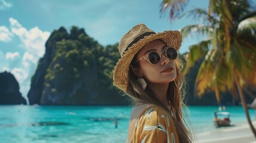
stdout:
POLYGON ((11 32, 20 38, 24 48, 35 57, 42 57, 45 53, 45 42, 49 38, 50 32, 43 32, 38 27, 27 30, 12 17, 9 21, 11 23, 11 32))

